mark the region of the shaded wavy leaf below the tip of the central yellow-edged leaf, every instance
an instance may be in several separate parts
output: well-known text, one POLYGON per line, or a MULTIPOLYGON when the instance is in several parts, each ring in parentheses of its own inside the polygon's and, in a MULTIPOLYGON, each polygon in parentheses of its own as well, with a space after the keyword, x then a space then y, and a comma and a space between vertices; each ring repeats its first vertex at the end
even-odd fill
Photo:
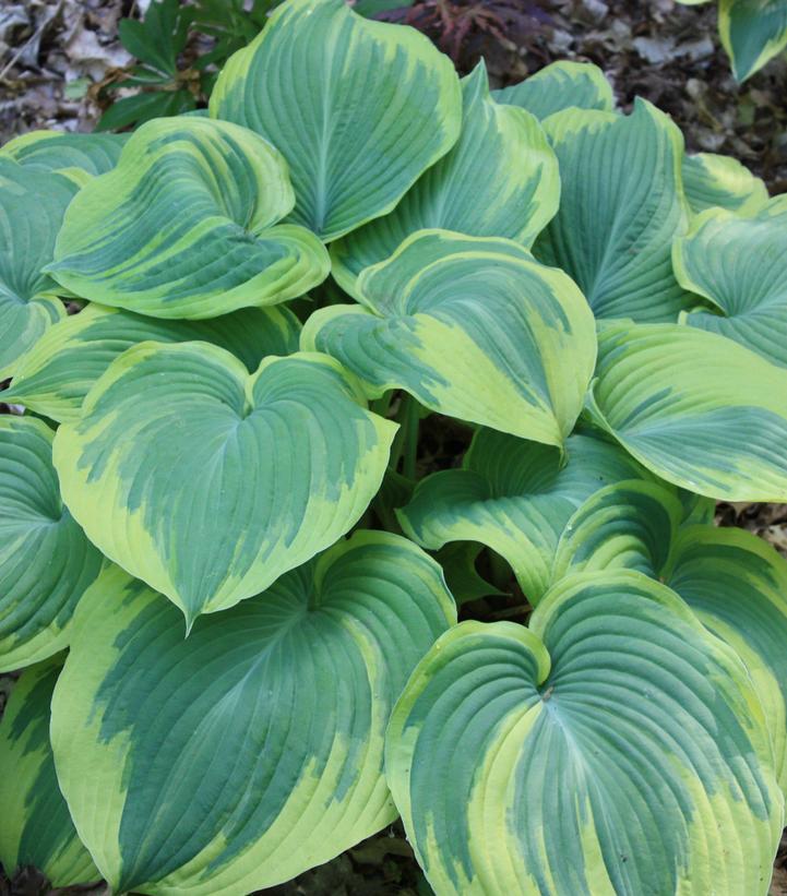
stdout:
POLYGON ((562 462, 555 447, 481 429, 463 468, 421 480, 398 518, 405 535, 425 548, 480 541, 497 551, 535 602, 550 584, 558 541, 574 511, 612 482, 643 477, 648 474, 633 458, 598 438, 569 437, 562 462))

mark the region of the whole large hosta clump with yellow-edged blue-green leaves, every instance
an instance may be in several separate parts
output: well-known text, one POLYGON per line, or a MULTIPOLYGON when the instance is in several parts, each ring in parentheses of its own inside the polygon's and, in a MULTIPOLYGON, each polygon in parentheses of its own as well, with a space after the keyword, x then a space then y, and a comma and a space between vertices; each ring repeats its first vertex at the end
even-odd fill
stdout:
POLYGON ((401 816, 438 896, 767 892, 787 562, 714 507, 787 502, 780 199, 287 0, 0 210, 7 873, 242 896, 401 816))

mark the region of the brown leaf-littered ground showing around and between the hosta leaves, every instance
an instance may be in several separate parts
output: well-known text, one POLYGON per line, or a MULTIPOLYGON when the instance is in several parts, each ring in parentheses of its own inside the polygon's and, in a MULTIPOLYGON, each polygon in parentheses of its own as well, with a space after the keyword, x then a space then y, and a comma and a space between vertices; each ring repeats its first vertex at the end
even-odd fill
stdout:
MULTIPOLYGON (((117 23, 133 9, 131 0, 0 2, 0 143, 35 128, 91 129, 100 112, 100 84, 117 77, 130 61, 117 40, 117 23)), ((737 85, 716 35, 715 4, 484 0, 451 9, 446 20, 436 0, 426 0, 406 16, 450 52, 463 73, 481 55, 498 84, 520 81, 557 59, 595 62, 613 83, 623 108, 634 96, 646 97, 671 114, 690 151, 734 155, 762 176, 772 192, 787 191, 787 105, 782 101, 787 62, 774 60, 737 85)), ((422 471, 451 466, 465 444, 461 427, 429 418, 420 443, 422 471)), ((722 504, 717 522, 755 531, 787 555, 785 505, 722 504)), ((509 610, 516 612, 521 602, 514 590, 509 610)), ((504 604, 498 604, 499 612, 506 612, 504 604)), ((0 710, 3 698, 0 680, 0 710)), ((23 873, 13 884, 0 874, 0 896, 45 892, 46 883, 34 874, 23 873)), ((327 865, 266 892, 421 896, 429 888, 401 826, 394 825, 327 865)), ((787 846, 776 861, 772 893, 787 894, 787 846)))

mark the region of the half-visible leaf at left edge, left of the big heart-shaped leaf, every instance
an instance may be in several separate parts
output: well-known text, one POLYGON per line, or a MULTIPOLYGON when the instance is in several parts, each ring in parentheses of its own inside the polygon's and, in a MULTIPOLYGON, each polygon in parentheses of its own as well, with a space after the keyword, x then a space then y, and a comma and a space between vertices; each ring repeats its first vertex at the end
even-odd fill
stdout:
POLYGON ((0 416, 0 671, 67 646, 76 602, 102 569, 60 498, 52 435, 40 420, 0 416))

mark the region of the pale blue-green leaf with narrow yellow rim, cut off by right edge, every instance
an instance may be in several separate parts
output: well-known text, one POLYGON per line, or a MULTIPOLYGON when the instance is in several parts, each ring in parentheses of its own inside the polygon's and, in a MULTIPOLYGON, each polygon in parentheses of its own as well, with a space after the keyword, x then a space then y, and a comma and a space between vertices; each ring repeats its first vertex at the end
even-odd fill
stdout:
POLYGON ((700 215, 673 246, 680 283, 716 309, 683 319, 787 367, 787 198, 771 200, 752 217, 722 208, 700 215), (716 313, 714 313, 716 311, 716 313))

